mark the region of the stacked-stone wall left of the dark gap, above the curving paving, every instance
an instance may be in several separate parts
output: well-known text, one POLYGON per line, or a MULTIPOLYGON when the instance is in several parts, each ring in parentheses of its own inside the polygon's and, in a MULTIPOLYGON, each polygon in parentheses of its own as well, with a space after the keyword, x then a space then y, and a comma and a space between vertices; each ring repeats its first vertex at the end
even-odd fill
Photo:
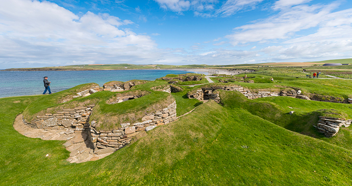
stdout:
POLYGON ((33 128, 52 129, 71 129, 73 132, 83 132, 89 128, 89 116, 94 108, 94 104, 87 107, 76 107, 74 109, 63 109, 56 114, 46 113, 44 116, 37 116, 36 119, 28 123, 23 123, 33 128))

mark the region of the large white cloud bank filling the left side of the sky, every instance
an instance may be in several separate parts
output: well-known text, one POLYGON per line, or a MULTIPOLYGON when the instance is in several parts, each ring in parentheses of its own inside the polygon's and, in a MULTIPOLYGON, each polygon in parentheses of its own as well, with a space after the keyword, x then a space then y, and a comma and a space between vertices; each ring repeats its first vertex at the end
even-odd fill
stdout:
POLYGON ((129 24, 134 23, 106 13, 78 16, 45 1, 2 1, 0 65, 143 61, 158 55, 149 36, 119 29, 129 24), (143 55, 149 51, 154 53, 143 55))

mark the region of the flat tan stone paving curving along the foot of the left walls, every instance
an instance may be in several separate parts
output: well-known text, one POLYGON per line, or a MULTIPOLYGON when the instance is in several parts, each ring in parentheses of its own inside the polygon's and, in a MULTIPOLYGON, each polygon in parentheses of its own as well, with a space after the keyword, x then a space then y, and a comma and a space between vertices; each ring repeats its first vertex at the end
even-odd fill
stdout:
POLYGON ((100 152, 99 154, 90 153, 92 149, 85 143, 85 140, 87 140, 87 134, 85 133, 73 133, 73 129, 44 130, 31 128, 23 123, 22 118, 22 114, 16 117, 13 123, 15 130, 29 138, 66 141, 63 146, 70 151, 70 157, 67 158, 70 163, 96 161, 113 153, 112 150, 105 150, 102 151, 104 153, 100 152))

